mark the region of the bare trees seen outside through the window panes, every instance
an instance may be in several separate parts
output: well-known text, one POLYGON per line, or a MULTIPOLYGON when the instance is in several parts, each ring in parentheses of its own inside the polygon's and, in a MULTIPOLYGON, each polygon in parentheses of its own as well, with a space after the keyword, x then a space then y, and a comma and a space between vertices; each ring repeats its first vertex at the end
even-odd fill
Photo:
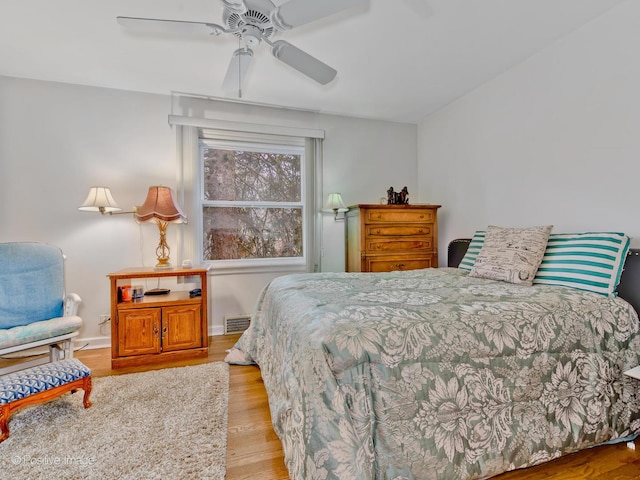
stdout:
POLYGON ((204 260, 303 256, 302 154, 266 150, 202 150, 204 260))

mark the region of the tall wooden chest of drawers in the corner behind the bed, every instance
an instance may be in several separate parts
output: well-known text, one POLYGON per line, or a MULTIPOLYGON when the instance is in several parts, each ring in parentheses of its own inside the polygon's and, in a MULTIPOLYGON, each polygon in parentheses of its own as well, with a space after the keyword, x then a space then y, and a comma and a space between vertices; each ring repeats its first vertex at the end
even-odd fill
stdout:
POLYGON ((440 205, 349 207, 347 272, 390 272, 438 266, 440 205))

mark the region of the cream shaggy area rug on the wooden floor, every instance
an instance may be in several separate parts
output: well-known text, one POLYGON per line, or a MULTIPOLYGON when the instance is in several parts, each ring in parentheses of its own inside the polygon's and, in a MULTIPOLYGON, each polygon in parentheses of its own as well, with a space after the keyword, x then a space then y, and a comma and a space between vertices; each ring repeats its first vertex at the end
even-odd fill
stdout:
POLYGON ((229 366, 224 362, 93 379, 26 407, 0 443, 0 478, 225 477, 229 366))

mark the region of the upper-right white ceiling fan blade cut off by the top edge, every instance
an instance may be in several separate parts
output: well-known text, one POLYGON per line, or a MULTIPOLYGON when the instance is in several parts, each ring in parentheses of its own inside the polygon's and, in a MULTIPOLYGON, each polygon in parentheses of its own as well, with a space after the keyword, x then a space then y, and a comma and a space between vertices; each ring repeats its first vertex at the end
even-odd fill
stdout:
POLYGON ((278 30, 291 30, 364 3, 365 0, 289 0, 271 11, 271 23, 278 30))

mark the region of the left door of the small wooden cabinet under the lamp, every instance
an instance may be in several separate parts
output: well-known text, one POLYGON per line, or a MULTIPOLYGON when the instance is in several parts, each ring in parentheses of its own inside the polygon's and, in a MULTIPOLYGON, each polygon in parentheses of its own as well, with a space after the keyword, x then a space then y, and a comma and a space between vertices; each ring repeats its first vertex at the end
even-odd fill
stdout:
POLYGON ((160 353, 160 309, 138 308, 118 312, 118 355, 160 353))

